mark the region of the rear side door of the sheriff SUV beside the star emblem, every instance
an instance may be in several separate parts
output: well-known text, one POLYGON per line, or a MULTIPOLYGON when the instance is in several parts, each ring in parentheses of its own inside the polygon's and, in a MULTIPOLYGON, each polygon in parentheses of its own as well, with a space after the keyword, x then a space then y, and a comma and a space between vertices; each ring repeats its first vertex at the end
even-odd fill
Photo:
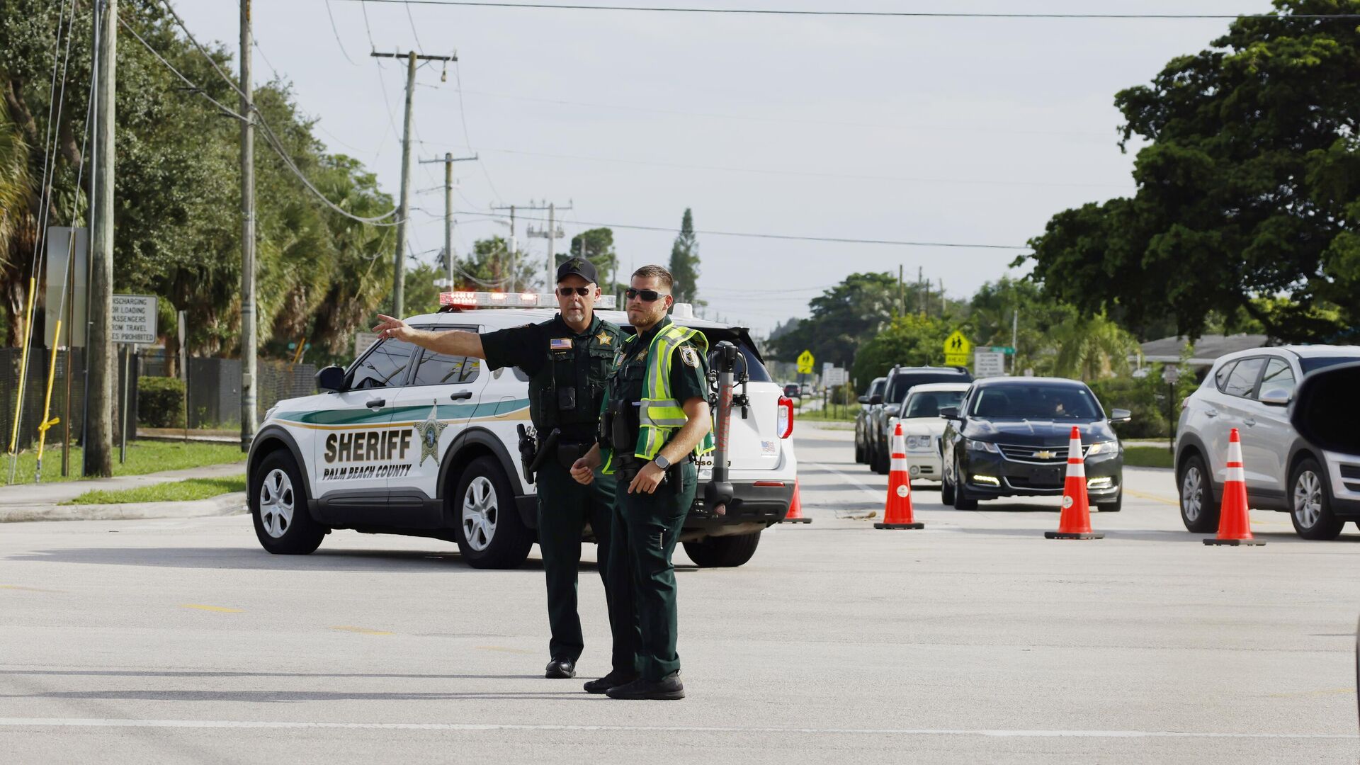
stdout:
MULTIPOLYGON (((420 327, 437 332, 477 327, 420 327)), ((462 433, 477 408, 487 384, 486 365, 472 357, 452 357, 418 348, 407 384, 396 395, 390 427, 409 444, 393 460, 388 475, 393 519, 407 528, 439 528, 443 524, 439 475, 449 446, 462 433)), ((454 476, 456 479, 456 476, 454 476)))

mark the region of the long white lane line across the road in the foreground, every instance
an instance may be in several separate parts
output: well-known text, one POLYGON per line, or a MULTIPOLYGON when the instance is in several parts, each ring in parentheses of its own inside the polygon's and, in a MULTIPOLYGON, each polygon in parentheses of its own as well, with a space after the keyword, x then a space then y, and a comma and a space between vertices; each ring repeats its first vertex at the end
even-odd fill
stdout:
POLYGON ((340 728, 374 731, 622 731, 679 734, 812 734, 991 738, 1227 738, 1227 739, 1360 739, 1356 734, 1270 734, 1209 731, 1025 731, 987 728, 775 728, 715 726, 532 726, 510 723, 307 723, 286 720, 126 720, 101 717, 0 717, 0 727, 67 728, 340 728))

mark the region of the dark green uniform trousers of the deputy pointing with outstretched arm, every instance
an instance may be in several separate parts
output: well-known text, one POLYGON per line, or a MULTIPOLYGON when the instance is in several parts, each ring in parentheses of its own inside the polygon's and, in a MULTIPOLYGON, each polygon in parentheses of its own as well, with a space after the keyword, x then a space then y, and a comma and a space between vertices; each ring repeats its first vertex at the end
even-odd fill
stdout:
POLYGON ((577 569, 581 566, 581 532, 589 523, 597 540, 600 580, 605 584, 609 629, 613 633, 613 668, 631 671, 632 653, 626 648, 632 623, 631 608, 627 607, 630 596, 628 591, 623 591, 622 596, 611 592, 608 579, 615 479, 597 471, 594 482, 582 486, 567 468, 549 459, 539 471, 537 481, 539 553, 548 584, 548 626, 552 630, 548 652, 554 659, 575 663, 585 649, 581 615, 577 613, 577 569))

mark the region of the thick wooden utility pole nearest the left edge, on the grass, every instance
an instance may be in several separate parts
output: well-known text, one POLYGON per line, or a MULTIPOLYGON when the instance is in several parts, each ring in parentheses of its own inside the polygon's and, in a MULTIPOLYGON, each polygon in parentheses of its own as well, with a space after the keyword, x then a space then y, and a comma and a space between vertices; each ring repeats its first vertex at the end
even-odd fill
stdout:
POLYGON ((84 475, 113 475, 113 338, 109 319, 113 314, 113 135, 114 93, 117 91, 118 0, 103 0, 99 49, 95 52, 99 74, 95 79, 97 125, 94 146, 99 163, 94 167, 95 206, 90 235, 90 332, 86 338, 86 365, 90 374, 88 438, 84 444, 84 475))

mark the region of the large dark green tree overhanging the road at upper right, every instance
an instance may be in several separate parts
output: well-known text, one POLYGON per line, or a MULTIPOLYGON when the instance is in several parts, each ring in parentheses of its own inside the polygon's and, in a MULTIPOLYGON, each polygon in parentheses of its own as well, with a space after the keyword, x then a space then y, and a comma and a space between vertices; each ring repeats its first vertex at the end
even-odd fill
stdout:
POLYGON ((1285 340, 1360 320, 1360 0, 1276 0, 1115 97, 1148 143, 1133 197, 1055 215, 1034 275, 1084 314, 1197 336, 1244 312, 1285 340))

